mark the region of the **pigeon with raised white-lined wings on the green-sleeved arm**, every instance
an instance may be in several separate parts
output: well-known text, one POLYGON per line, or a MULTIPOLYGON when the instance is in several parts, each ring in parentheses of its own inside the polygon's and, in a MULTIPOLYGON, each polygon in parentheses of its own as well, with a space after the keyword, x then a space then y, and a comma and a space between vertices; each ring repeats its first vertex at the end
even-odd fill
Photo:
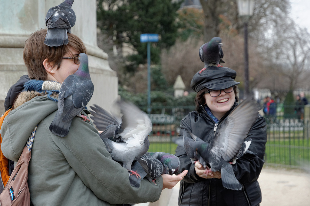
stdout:
POLYGON ((135 158, 148 151, 148 134, 152 131, 152 122, 145 112, 132 103, 120 101, 118 105, 123 114, 121 120, 98 105, 91 106, 91 119, 97 129, 103 131, 99 136, 112 159, 139 177, 139 173, 131 169, 131 164, 135 158))

